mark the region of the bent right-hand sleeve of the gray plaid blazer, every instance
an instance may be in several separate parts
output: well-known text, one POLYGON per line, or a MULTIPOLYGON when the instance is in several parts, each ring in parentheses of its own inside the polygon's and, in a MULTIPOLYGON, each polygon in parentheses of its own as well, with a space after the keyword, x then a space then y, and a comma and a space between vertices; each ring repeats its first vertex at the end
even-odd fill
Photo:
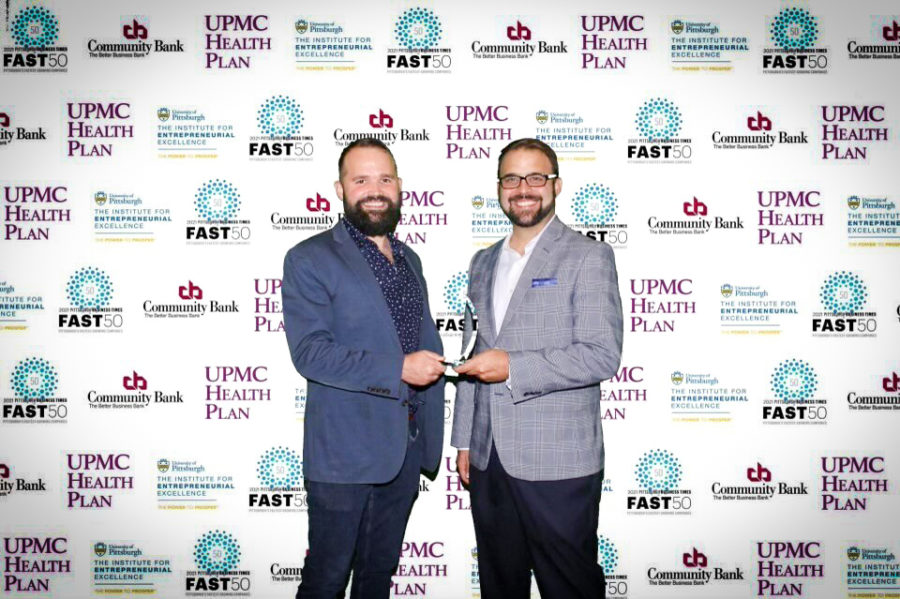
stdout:
POLYGON ((612 248, 592 247, 575 282, 573 342, 509 352, 512 402, 612 378, 622 358, 622 300, 612 248))

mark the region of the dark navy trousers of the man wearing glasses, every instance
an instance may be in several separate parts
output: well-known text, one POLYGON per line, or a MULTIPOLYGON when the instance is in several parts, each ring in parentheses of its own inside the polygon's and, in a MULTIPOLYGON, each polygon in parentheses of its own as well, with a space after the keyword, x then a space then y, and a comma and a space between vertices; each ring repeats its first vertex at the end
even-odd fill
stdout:
POLYGON ((487 470, 470 469, 469 494, 483 599, 606 597, 597 563, 603 471, 554 481, 511 477, 491 446, 487 470))

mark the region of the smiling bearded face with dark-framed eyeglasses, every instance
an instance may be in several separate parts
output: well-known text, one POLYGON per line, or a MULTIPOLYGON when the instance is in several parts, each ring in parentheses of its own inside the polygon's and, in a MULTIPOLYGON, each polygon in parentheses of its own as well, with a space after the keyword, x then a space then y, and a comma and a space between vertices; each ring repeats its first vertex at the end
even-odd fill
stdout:
MULTIPOLYGON (((525 177, 532 174, 551 175, 553 165, 539 150, 511 150, 500 163, 500 178, 507 175, 525 177)), ((519 181, 518 187, 505 189, 497 184, 500 208, 517 227, 544 225, 556 213, 556 196, 562 191, 561 179, 550 179, 543 187, 529 187, 519 181)))

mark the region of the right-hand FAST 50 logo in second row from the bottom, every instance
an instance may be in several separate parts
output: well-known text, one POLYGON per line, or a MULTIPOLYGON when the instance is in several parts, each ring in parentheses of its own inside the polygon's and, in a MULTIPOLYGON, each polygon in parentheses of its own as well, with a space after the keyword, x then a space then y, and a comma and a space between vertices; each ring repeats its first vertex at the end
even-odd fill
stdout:
POLYGON ((690 515, 691 491, 679 489, 682 477, 681 461, 666 449, 652 449, 644 453, 634 467, 637 489, 628 491, 627 513, 690 515))

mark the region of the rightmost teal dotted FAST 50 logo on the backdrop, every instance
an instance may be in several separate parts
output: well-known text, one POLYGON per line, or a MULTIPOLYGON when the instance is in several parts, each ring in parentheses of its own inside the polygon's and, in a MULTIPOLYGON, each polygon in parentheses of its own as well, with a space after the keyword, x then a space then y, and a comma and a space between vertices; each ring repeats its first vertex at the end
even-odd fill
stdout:
POLYGON ((814 337, 875 337, 878 314, 867 312, 868 288, 862 277, 850 271, 828 275, 819 288, 823 312, 813 312, 814 337))

